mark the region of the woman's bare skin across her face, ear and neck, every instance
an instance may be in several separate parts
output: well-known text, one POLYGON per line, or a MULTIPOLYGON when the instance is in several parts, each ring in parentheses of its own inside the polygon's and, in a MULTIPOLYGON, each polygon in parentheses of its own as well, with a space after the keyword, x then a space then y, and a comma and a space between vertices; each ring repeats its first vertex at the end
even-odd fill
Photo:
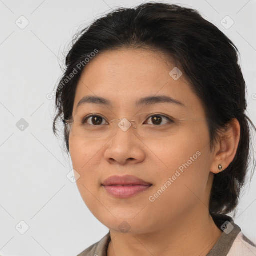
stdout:
MULTIPOLYGON (((110 230, 107 255, 203 256, 222 233, 207 205, 214 173, 224 170, 235 156, 239 122, 234 119, 210 151, 202 102, 184 72, 178 80, 169 75, 173 67, 174 62, 155 49, 108 50, 87 63, 78 82, 74 120, 93 112, 107 120, 133 120, 140 112, 144 117, 162 113, 188 119, 171 124, 166 136, 151 138, 140 138, 131 128, 126 132, 118 128, 113 137, 102 140, 70 132, 69 150, 73 168, 80 175, 76 181, 80 194, 92 214, 110 230), (86 103, 77 108, 86 95, 106 98, 112 106, 86 103), (137 99, 154 95, 171 96, 185 106, 160 103, 135 107, 137 99), (202 120, 193 120, 198 118, 202 120), (155 201, 149 201, 149 196, 197 151, 200 156, 155 201), (220 163, 222 170, 218 169, 220 163), (107 177, 125 174, 152 186, 130 198, 113 197, 101 186, 107 177), (128 223, 128 232, 118 228, 121 223, 128 223)), ((149 123, 153 125, 152 119, 149 123)))

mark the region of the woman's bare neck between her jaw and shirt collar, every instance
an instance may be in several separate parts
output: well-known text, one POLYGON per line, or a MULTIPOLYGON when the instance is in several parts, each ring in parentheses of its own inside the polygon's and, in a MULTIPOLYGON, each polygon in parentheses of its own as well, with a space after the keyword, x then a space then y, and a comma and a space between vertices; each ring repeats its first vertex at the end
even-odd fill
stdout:
POLYGON ((189 212, 189 216, 182 215, 169 222, 164 228, 150 233, 121 233, 110 230, 111 241, 107 256, 205 256, 222 233, 205 205, 197 209, 195 214, 189 212))

